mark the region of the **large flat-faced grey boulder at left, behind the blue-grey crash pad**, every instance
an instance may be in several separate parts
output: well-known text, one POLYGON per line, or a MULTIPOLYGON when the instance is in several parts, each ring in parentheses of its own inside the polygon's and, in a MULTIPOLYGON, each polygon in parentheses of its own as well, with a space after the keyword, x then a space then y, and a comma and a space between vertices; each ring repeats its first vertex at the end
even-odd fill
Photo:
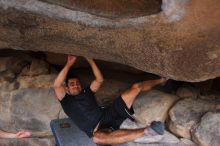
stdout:
POLYGON ((33 132, 50 131, 49 123, 58 118, 61 106, 52 89, 20 89, 9 96, 1 97, 1 128, 9 130, 27 129, 33 132), (7 98, 7 100, 5 99, 7 98), (4 101, 4 100, 3 100, 4 101), (15 121, 15 122, 13 122, 15 121))

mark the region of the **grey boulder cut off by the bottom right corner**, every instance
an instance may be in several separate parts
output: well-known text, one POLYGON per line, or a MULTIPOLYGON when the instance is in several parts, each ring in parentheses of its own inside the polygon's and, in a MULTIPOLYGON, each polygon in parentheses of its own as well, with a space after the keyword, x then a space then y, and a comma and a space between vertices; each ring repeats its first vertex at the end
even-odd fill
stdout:
POLYGON ((219 146, 220 113, 207 113, 192 132, 193 140, 200 146, 219 146))

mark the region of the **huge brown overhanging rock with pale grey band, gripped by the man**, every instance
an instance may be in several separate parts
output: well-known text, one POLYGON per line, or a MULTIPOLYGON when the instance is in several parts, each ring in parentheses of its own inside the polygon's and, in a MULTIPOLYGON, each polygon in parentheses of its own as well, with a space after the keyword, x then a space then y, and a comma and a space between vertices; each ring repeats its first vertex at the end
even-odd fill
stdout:
POLYGON ((220 76, 219 0, 163 0, 162 12, 109 19, 38 0, 0 1, 0 48, 92 56, 175 80, 220 76))

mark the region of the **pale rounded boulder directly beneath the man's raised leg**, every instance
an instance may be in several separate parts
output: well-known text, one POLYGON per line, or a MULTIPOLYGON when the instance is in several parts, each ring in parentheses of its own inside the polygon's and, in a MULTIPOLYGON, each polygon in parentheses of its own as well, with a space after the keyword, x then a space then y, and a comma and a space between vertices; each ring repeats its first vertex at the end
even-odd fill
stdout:
POLYGON ((175 95, 159 91, 141 93, 133 105, 135 118, 143 124, 165 121, 168 110, 178 99, 175 95))

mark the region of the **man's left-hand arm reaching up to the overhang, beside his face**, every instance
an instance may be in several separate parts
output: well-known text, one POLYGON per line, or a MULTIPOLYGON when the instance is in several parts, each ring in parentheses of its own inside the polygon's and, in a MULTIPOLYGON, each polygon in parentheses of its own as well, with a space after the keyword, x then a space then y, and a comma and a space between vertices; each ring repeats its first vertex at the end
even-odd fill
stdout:
POLYGON ((76 57, 69 55, 67 58, 66 65, 63 67, 63 69, 60 71, 60 73, 58 74, 58 76, 56 77, 54 81, 53 87, 54 87, 56 96, 59 100, 62 100, 66 94, 66 90, 65 90, 65 87, 63 86, 63 82, 66 79, 66 76, 67 76, 67 73, 70 67, 74 64, 75 61, 76 61, 76 57))

